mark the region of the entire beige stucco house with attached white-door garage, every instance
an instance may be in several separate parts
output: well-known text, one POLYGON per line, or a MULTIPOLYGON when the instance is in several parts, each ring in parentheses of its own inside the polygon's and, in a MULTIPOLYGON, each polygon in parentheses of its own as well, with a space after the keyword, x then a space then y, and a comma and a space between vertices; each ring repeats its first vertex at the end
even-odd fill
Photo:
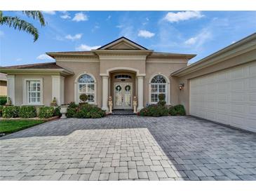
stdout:
POLYGON ((55 62, 2 67, 15 105, 79 102, 108 111, 158 102, 183 104, 187 114, 256 130, 256 34, 194 64, 193 54, 160 53, 121 37, 97 50, 47 53, 55 62))

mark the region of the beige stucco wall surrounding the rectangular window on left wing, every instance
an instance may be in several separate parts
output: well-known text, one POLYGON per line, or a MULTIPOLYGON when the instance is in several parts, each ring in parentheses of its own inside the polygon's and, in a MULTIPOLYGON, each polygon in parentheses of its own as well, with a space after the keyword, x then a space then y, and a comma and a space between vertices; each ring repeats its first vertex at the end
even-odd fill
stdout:
POLYGON ((23 104, 23 79, 24 78, 42 78, 43 79, 43 104, 50 106, 52 102, 52 77, 50 75, 15 75, 15 105, 23 104))

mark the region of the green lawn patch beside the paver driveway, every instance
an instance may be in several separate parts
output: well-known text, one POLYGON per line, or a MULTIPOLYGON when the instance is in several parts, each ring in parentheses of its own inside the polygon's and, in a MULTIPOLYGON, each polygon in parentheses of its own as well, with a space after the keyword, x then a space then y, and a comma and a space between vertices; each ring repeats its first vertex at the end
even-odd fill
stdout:
POLYGON ((12 133, 17 132, 19 130, 24 130, 26 128, 30 128, 34 125, 38 125, 40 123, 44 123, 44 120, 1 120, 0 121, 0 133, 12 133))

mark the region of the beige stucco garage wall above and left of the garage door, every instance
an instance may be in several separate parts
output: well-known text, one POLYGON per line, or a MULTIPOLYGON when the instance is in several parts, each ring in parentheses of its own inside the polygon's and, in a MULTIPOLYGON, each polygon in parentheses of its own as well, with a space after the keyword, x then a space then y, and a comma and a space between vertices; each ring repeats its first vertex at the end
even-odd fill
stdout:
POLYGON ((212 66, 199 69, 198 71, 194 71, 185 76, 181 76, 179 78, 173 77, 177 85, 179 85, 180 83, 184 83, 184 89, 181 91, 180 90, 177 91, 178 103, 183 104, 184 107, 186 108, 187 114, 189 114, 189 79, 211 74, 215 71, 221 71, 223 69, 228 69, 230 67, 235 67, 235 66, 238 66, 239 64, 249 64, 250 62, 255 60, 256 60, 256 50, 251 50, 247 53, 243 53, 242 55, 232 57, 229 60, 225 60, 217 64, 214 64, 212 66))

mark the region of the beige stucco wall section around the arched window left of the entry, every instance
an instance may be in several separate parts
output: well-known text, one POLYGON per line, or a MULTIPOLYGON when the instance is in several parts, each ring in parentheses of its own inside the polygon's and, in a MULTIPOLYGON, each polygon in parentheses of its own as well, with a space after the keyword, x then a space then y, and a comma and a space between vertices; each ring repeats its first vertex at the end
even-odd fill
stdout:
POLYGON ((91 74, 95 77, 97 83, 97 105, 102 105, 102 78, 100 76, 100 62, 63 62, 56 60, 56 63, 69 71, 74 72, 74 75, 65 77, 65 98, 64 102, 74 102, 74 82, 81 74, 91 74))

